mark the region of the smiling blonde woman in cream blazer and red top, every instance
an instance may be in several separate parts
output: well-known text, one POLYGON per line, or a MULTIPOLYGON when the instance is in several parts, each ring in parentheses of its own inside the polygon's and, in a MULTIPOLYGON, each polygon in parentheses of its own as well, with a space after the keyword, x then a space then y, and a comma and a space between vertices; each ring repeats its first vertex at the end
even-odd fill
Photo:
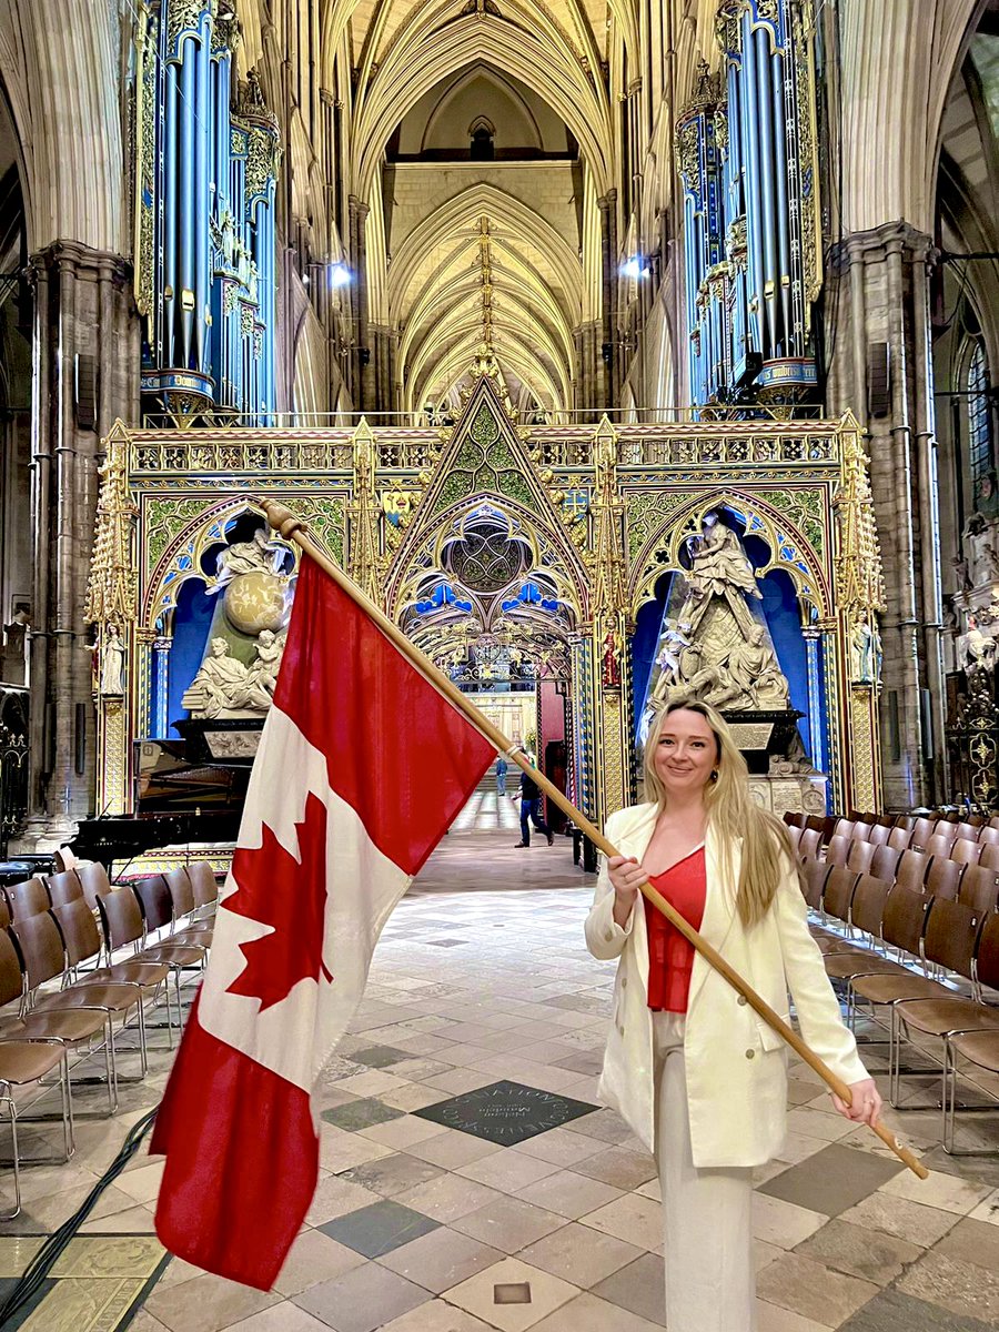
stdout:
POLYGON ((645 750, 650 803, 607 819, 621 850, 601 870, 590 952, 619 958, 601 1100, 654 1152, 666 1225, 670 1332, 755 1327, 753 1167, 786 1132, 786 1047, 669 926, 638 884, 659 888, 852 1091, 848 1119, 880 1098, 843 1026, 783 826, 749 793, 745 759, 707 703, 677 699, 645 750))

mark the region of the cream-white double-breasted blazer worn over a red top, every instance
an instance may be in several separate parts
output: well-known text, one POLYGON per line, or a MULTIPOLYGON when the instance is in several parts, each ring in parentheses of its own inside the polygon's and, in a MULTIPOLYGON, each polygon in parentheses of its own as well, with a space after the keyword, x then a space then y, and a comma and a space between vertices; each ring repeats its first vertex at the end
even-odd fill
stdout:
MULTIPOLYGON (((641 863, 657 813, 655 805, 619 810, 607 819, 609 840, 641 863)), ((735 910, 739 846, 731 862, 733 879, 726 882, 709 829, 701 934, 786 1020, 790 990, 803 1039, 843 1082, 867 1078, 809 934, 794 867, 789 863, 782 874, 766 916, 747 930, 735 910)), ((651 1152, 655 1096, 645 908, 637 900, 623 928, 613 912, 614 888, 603 860, 586 918, 586 946, 594 958, 621 960, 598 1099, 617 1110, 651 1152)), ((699 952, 690 979, 683 1054, 694 1166, 762 1166, 775 1156, 787 1132, 787 1047, 699 952)))

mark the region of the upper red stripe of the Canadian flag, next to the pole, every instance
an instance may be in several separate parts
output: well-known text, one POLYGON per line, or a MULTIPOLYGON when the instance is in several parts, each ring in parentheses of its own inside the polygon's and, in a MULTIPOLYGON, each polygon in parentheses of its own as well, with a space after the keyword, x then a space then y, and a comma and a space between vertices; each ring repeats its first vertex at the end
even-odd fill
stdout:
POLYGON ((322 750, 333 790, 406 874, 420 871, 468 799, 470 774, 474 787, 494 758, 489 741, 309 558, 274 706, 322 750), (328 662, 337 673, 321 689, 328 662))

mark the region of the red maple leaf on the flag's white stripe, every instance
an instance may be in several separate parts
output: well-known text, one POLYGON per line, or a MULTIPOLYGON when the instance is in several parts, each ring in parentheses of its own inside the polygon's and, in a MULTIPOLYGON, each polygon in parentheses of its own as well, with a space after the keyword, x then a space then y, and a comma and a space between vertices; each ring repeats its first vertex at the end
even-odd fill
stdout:
POLYGON ((270 934, 241 943, 246 966, 229 994, 260 999, 260 1011, 286 999, 300 980, 333 976, 322 962, 326 914, 326 806, 312 791, 296 823, 298 859, 264 825, 260 847, 237 847, 232 874, 237 891, 226 910, 269 924, 270 934))

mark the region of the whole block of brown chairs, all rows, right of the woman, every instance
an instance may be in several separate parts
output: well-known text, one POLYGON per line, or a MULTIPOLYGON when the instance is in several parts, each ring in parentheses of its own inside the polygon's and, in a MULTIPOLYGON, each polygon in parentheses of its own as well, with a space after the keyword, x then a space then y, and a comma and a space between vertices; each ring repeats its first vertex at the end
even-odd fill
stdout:
POLYGON ((926 1074, 903 1070, 903 1046, 914 1034, 942 1040, 943 1144, 958 1152, 960 1062, 999 1074, 999 818, 785 822, 847 1019, 863 1011, 886 1028, 892 1106, 906 1072, 926 1074), (810 832, 819 832, 818 848, 810 832))

